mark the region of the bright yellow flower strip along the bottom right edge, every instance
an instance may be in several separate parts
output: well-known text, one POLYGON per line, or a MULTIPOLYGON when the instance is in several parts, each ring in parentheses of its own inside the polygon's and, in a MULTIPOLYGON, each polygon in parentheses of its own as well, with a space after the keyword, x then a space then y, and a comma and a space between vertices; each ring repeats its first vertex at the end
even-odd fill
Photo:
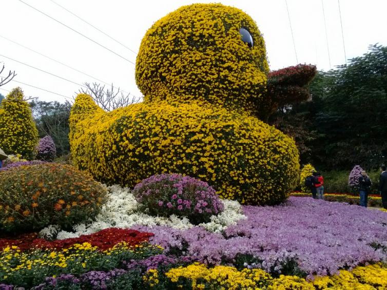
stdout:
POLYGON ((194 263, 186 267, 170 269, 166 277, 180 288, 192 289, 386 289, 387 267, 378 263, 359 266, 352 271, 341 270, 338 275, 315 277, 307 281, 297 276, 273 278, 261 269, 207 266, 194 263))

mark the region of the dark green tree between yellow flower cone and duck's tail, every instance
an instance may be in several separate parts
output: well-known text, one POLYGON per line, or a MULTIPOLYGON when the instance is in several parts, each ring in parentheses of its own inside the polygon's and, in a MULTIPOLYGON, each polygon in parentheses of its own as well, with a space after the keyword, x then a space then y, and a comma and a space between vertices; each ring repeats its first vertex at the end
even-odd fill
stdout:
POLYGON ((69 117, 71 104, 66 102, 32 101, 30 103, 39 137, 51 136, 57 156, 70 152, 69 117))

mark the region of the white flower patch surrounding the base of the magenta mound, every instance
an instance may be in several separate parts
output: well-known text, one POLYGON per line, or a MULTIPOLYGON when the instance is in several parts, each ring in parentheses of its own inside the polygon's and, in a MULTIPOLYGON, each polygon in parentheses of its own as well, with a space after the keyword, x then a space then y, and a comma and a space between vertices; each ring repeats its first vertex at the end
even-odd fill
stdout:
MULTIPOLYGON (((79 224, 74 226, 75 233, 68 231, 59 231, 57 239, 67 239, 79 237, 80 235, 87 235, 95 233, 108 227, 129 228, 133 225, 146 225, 149 227, 155 225, 165 225, 178 229, 188 229, 194 227, 187 218, 180 218, 172 215, 169 218, 153 217, 143 212, 138 211, 137 201, 134 199, 129 188, 121 188, 118 185, 109 187, 110 194, 108 201, 102 207, 102 210, 95 221, 90 224, 79 224)), ((227 226, 234 225, 241 219, 246 219, 243 215, 241 205, 237 201, 222 200, 224 204, 224 211, 218 216, 212 216, 211 221, 202 223, 205 229, 219 233, 227 228, 227 226)), ((52 237, 53 231, 57 231, 55 226, 46 227, 41 231, 41 236, 52 237)))

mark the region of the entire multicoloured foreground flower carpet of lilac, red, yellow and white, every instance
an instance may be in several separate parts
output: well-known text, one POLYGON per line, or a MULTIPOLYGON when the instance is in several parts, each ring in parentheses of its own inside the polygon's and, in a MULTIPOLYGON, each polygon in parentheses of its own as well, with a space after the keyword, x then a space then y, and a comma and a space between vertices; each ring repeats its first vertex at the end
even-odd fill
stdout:
POLYGON ((291 197, 279 206, 242 206, 237 221, 206 229, 142 221, 130 202, 108 223, 112 205, 99 221, 80 225, 76 238, 0 240, 0 289, 387 287, 386 212, 291 197), (112 228, 117 222, 131 229, 112 228))

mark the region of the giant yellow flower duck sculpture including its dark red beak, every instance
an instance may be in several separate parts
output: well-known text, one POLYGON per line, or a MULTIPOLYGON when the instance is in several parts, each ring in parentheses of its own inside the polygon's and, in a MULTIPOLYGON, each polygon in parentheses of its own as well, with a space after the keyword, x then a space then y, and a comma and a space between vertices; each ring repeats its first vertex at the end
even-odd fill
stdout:
POLYGON ((297 185, 295 142, 262 120, 308 97, 314 67, 269 73, 261 32, 221 4, 181 7, 145 34, 136 63, 144 102, 105 112, 77 96, 73 161, 106 183, 181 173, 243 204, 278 204, 297 185), (309 69, 308 69, 309 68, 309 69), (312 73, 310 73, 312 72, 312 73))

